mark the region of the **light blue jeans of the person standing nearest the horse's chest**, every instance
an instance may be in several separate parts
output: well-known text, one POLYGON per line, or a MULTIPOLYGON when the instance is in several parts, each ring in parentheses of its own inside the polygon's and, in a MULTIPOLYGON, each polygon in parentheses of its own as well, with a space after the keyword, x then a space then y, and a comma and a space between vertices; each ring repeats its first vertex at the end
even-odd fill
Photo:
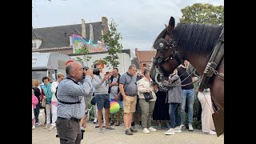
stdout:
POLYGON ((189 124, 193 122, 194 89, 182 90, 181 124, 185 122, 185 106, 188 106, 189 124))

